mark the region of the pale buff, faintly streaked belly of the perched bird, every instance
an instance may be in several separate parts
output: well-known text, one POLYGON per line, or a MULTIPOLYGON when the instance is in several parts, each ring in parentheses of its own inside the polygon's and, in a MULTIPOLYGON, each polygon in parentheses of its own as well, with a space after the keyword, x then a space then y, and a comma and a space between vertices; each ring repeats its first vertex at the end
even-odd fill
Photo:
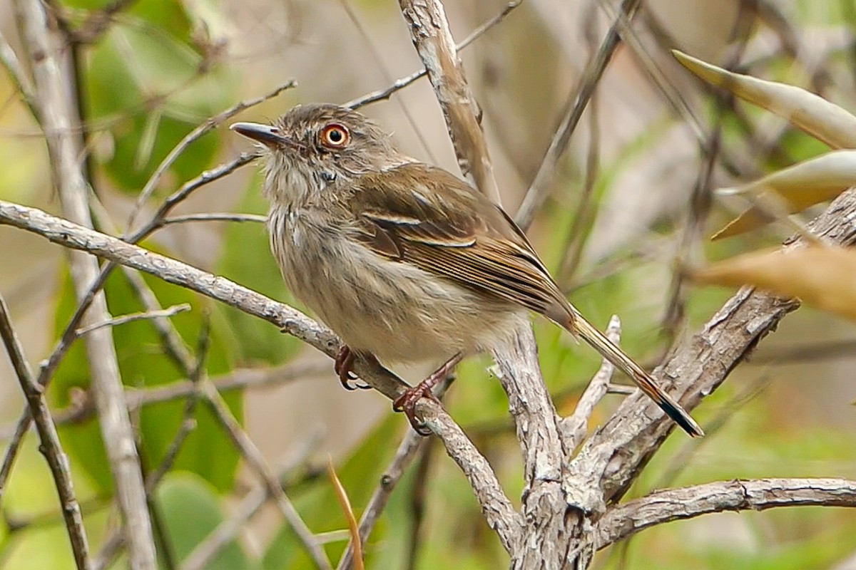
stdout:
POLYGON ((528 319, 526 309, 485 299, 346 238, 301 235, 298 241, 286 250, 275 247, 294 296, 351 349, 382 361, 490 349, 528 319))

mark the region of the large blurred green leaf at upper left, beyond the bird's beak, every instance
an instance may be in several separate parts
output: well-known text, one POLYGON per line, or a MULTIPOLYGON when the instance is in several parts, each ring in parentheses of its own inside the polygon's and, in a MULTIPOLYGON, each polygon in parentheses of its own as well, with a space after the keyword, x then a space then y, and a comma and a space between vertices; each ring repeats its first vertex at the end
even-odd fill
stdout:
MULTIPOLYGON (((181 12, 170 18, 185 21, 180 36, 164 31, 158 19, 168 16, 152 10, 146 14, 157 26, 114 26, 92 48, 86 73, 89 115, 107 127, 98 133, 99 140, 110 137, 112 142, 99 144, 97 148, 110 150, 96 157, 125 191, 140 191, 188 132, 233 102, 236 73, 215 66, 199 76, 202 58, 183 41, 187 22, 174 4, 165 3, 171 8, 163 13, 181 12)), ((169 168, 163 185, 175 186, 210 167, 219 146, 217 133, 194 141, 169 168)))

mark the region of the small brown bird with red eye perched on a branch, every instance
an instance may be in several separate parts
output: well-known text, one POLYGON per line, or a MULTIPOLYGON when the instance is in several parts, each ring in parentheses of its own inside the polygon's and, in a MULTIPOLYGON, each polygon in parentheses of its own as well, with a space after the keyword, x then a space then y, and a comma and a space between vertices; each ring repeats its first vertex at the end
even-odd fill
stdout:
POLYGON ((508 214, 455 175, 404 155, 360 113, 299 105, 272 126, 235 123, 265 150, 268 232, 294 296, 354 355, 447 359, 395 401, 413 408, 461 356, 490 350, 543 314, 583 338, 692 436, 704 434, 642 367, 568 303, 508 214))

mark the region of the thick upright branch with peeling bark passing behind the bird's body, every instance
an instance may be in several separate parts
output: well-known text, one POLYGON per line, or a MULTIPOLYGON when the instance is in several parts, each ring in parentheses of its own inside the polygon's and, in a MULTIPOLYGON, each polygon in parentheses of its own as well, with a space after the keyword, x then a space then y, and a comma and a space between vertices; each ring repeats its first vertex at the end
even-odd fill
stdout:
MULTIPOLYGON (((479 191, 499 203, 487 143, 479 124, 479 106, 467 85, 443 4, 439 0, 400 0, 400 4, 410 25, 413 44, 443 108, 461 171, 472 173, 479 191)), ((490 509, 484 509, 485 504, 490 504, 485 502, 482 502, 483 512, 494 528, 497 528, 497 519, 514 520, 515 525, 520 524, 516 520, 525 523, 522 534, 515 532, 520 535, 518 540, 508 542, 503 538, 513 567, 534 568, 542 564, 553 567, 564 559, 564 548, 569 543, 568 530, 574 525, 574 517, 565 515, 562 474, 567 454, 559 437, 556 410, 538 367, 538 347, 532 328, 522 326, 508 343, 493 347, 493 355, 502 372, 500 380, 508 393, 508 406, 517 427, 526 487, 522 518, 510 509, 502 488, 492 490, 495 494, 490 500, 494 509, 510 509, 508 515, 496 517, 490 509), (511 514, 515 515, 514 519, 509 519, 511 514)), ((470 472, 482 466, 461 461, 458 464, 480 496, 484 492, 478 486, 480 478, 473 477, 470 472)), ((484 467, 490 469, 486 462, 484 467)), ((514 532, 513 527, 509 528, 510 532, 514 532)), ((502 532, 499 534, 502 538, 502 532)))

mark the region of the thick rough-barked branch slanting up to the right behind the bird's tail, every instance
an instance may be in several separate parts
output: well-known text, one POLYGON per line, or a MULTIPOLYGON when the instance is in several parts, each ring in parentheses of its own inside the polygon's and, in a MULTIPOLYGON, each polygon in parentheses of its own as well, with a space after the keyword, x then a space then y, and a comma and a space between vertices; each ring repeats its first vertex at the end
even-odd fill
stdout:
MULTIPOLYGON (((837 244, 856 242, 856 191, 847 191, 836 198, 811 223, 811 231, 837 244)), ((713 315, 701 332, 669 356, 654 371, 654 376, 664 384, 674 384, 672 395, 685 408, 693 409, 722 384, 761 338, 798 306, 793 299, 743 288, 713 315)), ((580 506, 590 510, 602 508, 603 502, 595 500, 599 492, 592 491, 598 488, 603 489, 601 498, 605 502, 620 498, 673 427, 643 395, 627 397, 572 461, 580 506)))

